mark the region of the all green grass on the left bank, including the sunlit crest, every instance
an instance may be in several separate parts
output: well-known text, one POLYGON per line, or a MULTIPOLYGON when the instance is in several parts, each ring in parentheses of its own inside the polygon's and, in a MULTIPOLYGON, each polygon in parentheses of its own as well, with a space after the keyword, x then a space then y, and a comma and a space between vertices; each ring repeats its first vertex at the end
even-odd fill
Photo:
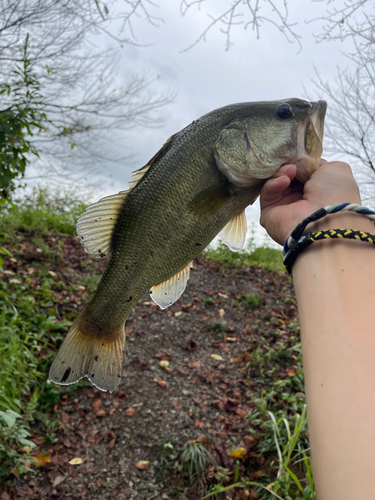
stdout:
MULTIPOLYGON (((30 264, 37 268, 37 278, 7 269, 0 280, 0 481, 11 471, 27 469, 34 446, 29 431, 35 418, 54 439, 55 423, 44 413, 67 389, 47 381, 47 374, 55 345, 77 313, 57 318, 54 292, 74 294, 76 284, 64 283, 56 273, 51 276, 51 265, 58 266, 62 257, 62 241, 56 237, 50 247, 47 236, 75 234, 75 221, 84 209, 75 193, 52 195, 42 188, 14 206, 0 208, 0 271, 5 256, 28 269, 23 261, 25 241, 40 257, 30 264)), ((90 279, 94 283, 94 277, 90 279)))

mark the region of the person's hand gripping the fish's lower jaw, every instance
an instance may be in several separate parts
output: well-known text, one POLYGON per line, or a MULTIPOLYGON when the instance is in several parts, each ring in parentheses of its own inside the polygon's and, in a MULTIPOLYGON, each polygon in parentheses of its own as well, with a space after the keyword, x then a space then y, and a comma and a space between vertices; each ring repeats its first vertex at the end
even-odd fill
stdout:
POLYGON ((280 245, 297 224, 319 208, 345 202, 361 204, 358 185, 347 163, 321 160, 304 185, 291 184, 296 173, 295 165, 283 165, 260 193, 260 224, 280 245))

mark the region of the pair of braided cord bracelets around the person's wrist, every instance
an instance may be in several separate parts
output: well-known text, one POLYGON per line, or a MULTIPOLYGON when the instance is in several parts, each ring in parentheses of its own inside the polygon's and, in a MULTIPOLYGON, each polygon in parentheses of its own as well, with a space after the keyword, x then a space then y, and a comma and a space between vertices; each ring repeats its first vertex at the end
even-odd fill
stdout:
POLYGON ((375 212, 369 208, 362 207, 361 205, 356 205, 354 203, 340 203, 317 210, 300 222, 285 242, 283 248, 283 262, 289 274, 292 274, 292 266, 297 256, 314 241, 330 238, 345 238, 368 241, 375 244, 375 235, 364 231, 354 231, 352 229, 328 229, 326 231, 318 231, 316 233, 309 232, 302 235, 306 226, 310 224, 310 222, 315 222, 328 214, 337 213, 339 211, 351 211, 365 215, 371 219, 372 223, 375 225, 375 212))

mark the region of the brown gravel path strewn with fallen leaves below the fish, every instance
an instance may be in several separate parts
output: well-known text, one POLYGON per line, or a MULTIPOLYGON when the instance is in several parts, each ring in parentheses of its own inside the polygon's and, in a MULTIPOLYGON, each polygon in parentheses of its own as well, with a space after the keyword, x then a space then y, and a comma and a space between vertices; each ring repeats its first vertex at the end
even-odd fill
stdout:
MULTIPOLYGON (((201 441, 212 454, 208 480, 219 466, 233 466, 234 445, 252 461, 250 479, 259 477, 266 464, 254 451, 246 415, 262 387, 247 363, 265 336, 287 338, 296 320, 292 301, 283 304, 289 296, 286 274, 223 270, 197 259, 176 304, 162 311, 146 295, 132 311, 119 389, 109 394, 86 385, 64 394, 51 409, 60 422, 56 442, 47 443, 41 423, 34 429, 35 453, 49 461, 14 478, 0 498, 199 500, 199 487, 178 468, 188 440, 201 441), (252 294, 259 304, 241 300, 252 294), (169 365, 160 366, 163 361, 169 365)), ((257 498, 253 490, 233 495, 257 498)))

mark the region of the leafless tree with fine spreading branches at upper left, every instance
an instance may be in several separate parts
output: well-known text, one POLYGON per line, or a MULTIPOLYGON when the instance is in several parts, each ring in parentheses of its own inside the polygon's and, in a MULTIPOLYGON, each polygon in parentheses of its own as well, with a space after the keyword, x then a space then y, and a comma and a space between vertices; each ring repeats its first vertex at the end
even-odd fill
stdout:
POLYGON ((23 150, 20 161, 38 152, 33 160, 37 176, 77 182, 82 175, 87 179, 88 168, 93 172, 105 162, 124 160, 119 147, 124 131, 135 124, 160 124, 159 109, 174 98, 153 92, 157 77, 150 74, 128 76, 126 86, 119 81, 119 43, 133 42, 109 32, 121 18, 110 15, 114 3, 0 0, 0 89, 5 91, 0 109, 9 110, 2 114, 8 120, 16 92, 26 92, 21 76, 10 80, 9 75, 23 61, 28 37, 28 69, 38 81, 38 113, 45 115, 46 126, 27 138, 30 149, 23 150), (108 37, 117 46, 97 48, 98 36, 101 46, 108 37))

